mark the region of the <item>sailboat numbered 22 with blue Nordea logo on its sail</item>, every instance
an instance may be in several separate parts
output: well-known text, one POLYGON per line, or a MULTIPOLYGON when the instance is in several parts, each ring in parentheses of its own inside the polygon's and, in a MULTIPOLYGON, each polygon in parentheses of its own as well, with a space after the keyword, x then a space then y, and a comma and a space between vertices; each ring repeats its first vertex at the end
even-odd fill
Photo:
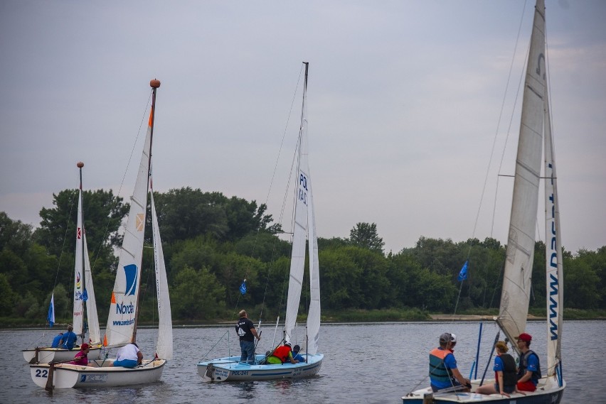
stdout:
POLYGON ((144 228, 147 208, 147 194, 151 194, 151 226, 154 239, 154 261, 156 271, 156 292, 158 300, 158 338, 154 359, 143 360, 135 368, 113 366, 114 359, 90 361, 88 366, 73 364, 31 365, 31 378, 38 386, 47 390, 53 388, 115 387, 132 386, 158 381, 164 365, 172 359, 173 338, 171 305, 168 281, 164 266, 164 253, 154 205, 153 182, 151 180, 151 144, 154 134, 154 112, 156 89, 159 80, 151 80, 151 113, 145 144, 139 164, 137 182, 131 197, 128 221, 125 226, 122 249, 110 302, 110 314, 103 338, 105 348, 124 346, 137 342, 137 317, 139 313, 139 286, 144 244, 144 228))

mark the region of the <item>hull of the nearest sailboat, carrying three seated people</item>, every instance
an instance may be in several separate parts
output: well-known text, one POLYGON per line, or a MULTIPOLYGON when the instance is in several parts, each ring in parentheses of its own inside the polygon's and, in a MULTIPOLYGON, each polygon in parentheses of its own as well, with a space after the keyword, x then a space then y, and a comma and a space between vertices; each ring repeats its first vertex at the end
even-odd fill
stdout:
MULTIPOLYGON (((494 383, 494 380, 484 381, 484 384, 494 383)), ((562 386, 558 386, 558 382, 555 377, 542 378, 537 386, 536 391, 528 392, 525 391, 526 395, 520 393, 512 393, 511 398, 507 398, 500 394, 476 394, 473 391, 479 386, 479 380, 472 381, 472 392, 471 393, 432 393, 431 388, 424 388, 421 390, 413 391, 412 393, 405 395, 402 398, 403 404, 422 404, 425 395, 433 395, 432 400, 427 397, 427 402, 434 404, 445 404, 445 403, 503 403, 503 404, 558 404, 562 400, 564 395, 564 389, 566 387, 565 381, 562 382, 562 386)))

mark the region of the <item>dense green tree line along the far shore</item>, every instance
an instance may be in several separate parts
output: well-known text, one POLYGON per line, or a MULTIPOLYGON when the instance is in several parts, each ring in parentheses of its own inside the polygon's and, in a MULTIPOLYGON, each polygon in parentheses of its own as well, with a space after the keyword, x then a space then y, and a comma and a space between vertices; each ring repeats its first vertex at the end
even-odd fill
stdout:
MULTIPOLYGON (((2 324, 43 323, 51 293, 55 317, 70 321, 77 195, 78 190, 53 195, 53 207, 41 209, 36 229, 0 212, 2 324)), ((156 192, 154 200, 174 320, 231 319, 237 307, 262 312, 266 319, 283 316, 290 244, 265 204, 190 187, 156 192), (247 292, 241 294, 244 279, 247 292)), ((111 190, 85 191, 83 204, 103 324, 122 242, 119 230, 129 206, 111 190)), ((147 217, 149 222, 151 215, 147 217)), ((146 246, 151 246, 151 239, 146 246)), ((505 246, 496 239, 453 242, 420 236, 415 246, 386 253, 376 224, 357 223, 349 238, 320 238, 318 246, 324 313, 386 309, 452 313, 455 305, 457 312, 499 307, 505 246), (457 275, 465 261, 468 277, 460 283, 457 275)), ((142 321, 153 320, 156 311, 153 261, 152 249, 144 249, 142 321)), ((531 307, 543 311, 544 262, 544 244, 538 241, 531 307)), ((606 246, 565 251, 564 268, 565 307, 606 309, 606 246)), ((308 290, 303 288, 303 309, 308 290)))

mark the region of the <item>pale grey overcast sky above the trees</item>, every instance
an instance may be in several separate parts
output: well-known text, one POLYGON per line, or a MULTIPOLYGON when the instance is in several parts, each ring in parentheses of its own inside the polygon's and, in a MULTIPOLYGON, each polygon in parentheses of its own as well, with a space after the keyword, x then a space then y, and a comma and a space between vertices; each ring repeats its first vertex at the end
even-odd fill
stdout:
MULTIPOLYGON (((420 236, 505 243, 513 181, 497 175, 514 171, 533 6, 0 1, 0 211, 38 226, 53 193, 78 186, 78 161, 85 189, 128 200, 156 77, 155 189, 267 202, 277 219, 307 61, 319 236, 369 222, 394 253, 420 236)), ((606 245, 606 1, 546 7, 563 243, 595 250, 606 245)))

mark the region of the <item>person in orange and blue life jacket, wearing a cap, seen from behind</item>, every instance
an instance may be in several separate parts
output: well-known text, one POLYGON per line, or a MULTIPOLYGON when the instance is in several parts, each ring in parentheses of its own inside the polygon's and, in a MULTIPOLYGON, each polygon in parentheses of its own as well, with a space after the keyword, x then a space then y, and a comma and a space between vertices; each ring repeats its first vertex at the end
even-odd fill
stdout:
POLYGON ((452 354, 452 334, 450 333, 445 332, 440 335, 440 347, 432 349, 430 352, 429 370, 432 391, 440 391, 443 388, 469 391, 469 388, 472 387, 469 379, 464 378, 457 368, 457 360, 452 354))

